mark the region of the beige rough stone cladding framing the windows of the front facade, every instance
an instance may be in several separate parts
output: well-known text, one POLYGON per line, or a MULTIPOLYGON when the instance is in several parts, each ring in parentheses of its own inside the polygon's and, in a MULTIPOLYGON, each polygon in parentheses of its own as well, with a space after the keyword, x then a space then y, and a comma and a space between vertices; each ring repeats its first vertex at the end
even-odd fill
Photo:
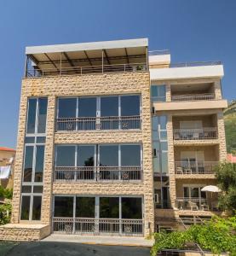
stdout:
POLYGON ((48 96, 46 147, 43 171, 42 224, 50 224, 53 194, 143 195, 145 235, 153 231, 153 168, 150 113, 149 73, 109 73, 55 76, 40 79, 23 79, 20 99, 20 119, 16 155, 12 222, 19 222, 20 183, 23 165, 24 136, 26 129, 27 97, 48 96), (104 96, 141 94, 141 131, 55 132, 56 98, 58 96, 104 96), (53 163, 55 143, 142 143, 143 181, 141 183, 54 183, 53 163), (53 186, 53 191, 52 191, 53 186), (148 224, 151 224, 149 230, 148 224))

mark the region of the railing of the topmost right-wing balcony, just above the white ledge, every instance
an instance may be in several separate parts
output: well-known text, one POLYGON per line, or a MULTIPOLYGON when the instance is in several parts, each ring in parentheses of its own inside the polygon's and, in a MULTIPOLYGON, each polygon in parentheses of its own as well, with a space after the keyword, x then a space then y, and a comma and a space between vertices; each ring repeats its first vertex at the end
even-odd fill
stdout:
POLYGON ((203 94, 184 94, 184 95, 172 95, 172 102, 195 102, 195 101, 210 101, 215 99, 214 93, 203 94))

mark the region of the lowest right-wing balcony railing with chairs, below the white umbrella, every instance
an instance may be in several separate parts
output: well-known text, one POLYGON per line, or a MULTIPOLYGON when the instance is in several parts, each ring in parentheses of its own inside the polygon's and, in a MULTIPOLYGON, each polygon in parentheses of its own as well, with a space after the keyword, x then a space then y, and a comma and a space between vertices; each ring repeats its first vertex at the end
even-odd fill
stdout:
POLYGON ((191 211, 209 211, 209 201, 205 198, 188 198, 178 197, 176 198, 176 207, 179 210, 191 210, 191 211))

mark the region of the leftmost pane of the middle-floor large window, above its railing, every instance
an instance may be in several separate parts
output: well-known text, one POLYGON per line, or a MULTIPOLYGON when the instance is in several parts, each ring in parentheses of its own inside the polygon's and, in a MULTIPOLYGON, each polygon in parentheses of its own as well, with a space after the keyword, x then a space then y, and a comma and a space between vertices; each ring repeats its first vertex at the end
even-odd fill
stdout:
POLYGON ((75 146, 56 147, 56 166, 75 166, 75 146))

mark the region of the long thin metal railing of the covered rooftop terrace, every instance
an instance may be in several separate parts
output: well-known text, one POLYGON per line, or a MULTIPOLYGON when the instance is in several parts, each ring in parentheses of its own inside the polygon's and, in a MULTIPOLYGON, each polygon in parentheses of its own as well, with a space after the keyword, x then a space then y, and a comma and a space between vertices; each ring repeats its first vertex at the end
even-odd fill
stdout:
POLYGON ((58 75, 83 75, 91 73, 130 73, 147 71, 146 63, 127 63, 100 66, 84 66, 84 67, 55 67, 55 68, 32 68, 26 72, 27 78, 43 78, 58 75))

